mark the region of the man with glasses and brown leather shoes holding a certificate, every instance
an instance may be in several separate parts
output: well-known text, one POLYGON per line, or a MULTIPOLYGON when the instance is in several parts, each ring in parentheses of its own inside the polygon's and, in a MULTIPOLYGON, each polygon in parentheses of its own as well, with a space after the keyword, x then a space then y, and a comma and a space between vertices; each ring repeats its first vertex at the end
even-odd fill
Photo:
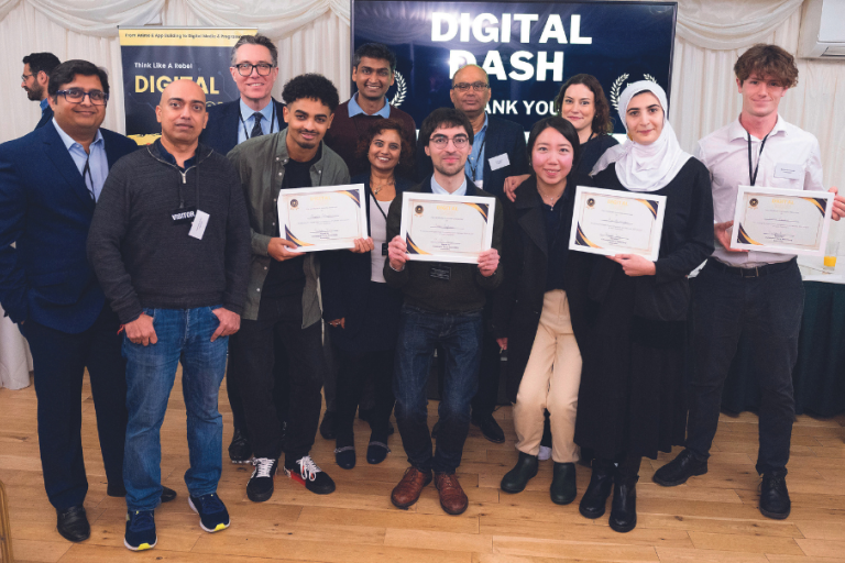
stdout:
MULTIPOLYGON (((450 196, 493 198, 468 180, 463 167, 472 147, 472 125, 460 111, 435 110, 422 122, 419 143, 431 157, 435 172, 411 191, 450 196)), ((502 283, 498 249, 502 244, 502 211, 496 206, 492 249, 479 255, 475 264, 408 262, 407 246, 399 236, 402 198, 391 205, 387 217, 388 245, 384 278, 400 287, 404 305, 399 318, 396 369, 396 422, 410 467, 405 472, 391 500, 399 508, 417 501, 431 482, 440 493, 440 506, 448 514, 467 510, 467 495, 454 475, 461 464, 463 443, 470 427, 470 401, 479 384, 482 311, 486 291, 502 283), (440 430, 437 451, 431 453, 428 431, 426 382, 435 346, 447 361, 443 394, 438 412, 440 430)))

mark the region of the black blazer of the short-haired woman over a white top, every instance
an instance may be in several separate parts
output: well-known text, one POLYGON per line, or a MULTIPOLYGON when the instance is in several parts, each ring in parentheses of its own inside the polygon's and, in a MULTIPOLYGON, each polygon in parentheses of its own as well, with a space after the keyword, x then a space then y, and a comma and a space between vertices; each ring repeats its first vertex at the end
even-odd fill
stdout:
MULTIPOLYGON (((370 217, 370 175, 354 176, 350 184, 363 184, 366 194, 366 217, 370 217)), ((396 197, 402 198, 402 192, 413 187, 413 183, 405 178, 396 178, 396 197)), ((370 234, 370 223, 366 225, 370 234)), ((381 249, 372 252, 381 253, 381 249)), ((365 316, 389 314, 391 311, 374 310, 366 302, 366 286, 371 277, 370 253, 355 254, 348 250, 323 252, 320 255, 320 289, 322 291, 322 318, 326 321, 345 318, 344 334, 354 336, 363 324, 365 316)), ((397 301, 402 302, 402 290, 384 284, 385 288, 394 291, 397 301)))

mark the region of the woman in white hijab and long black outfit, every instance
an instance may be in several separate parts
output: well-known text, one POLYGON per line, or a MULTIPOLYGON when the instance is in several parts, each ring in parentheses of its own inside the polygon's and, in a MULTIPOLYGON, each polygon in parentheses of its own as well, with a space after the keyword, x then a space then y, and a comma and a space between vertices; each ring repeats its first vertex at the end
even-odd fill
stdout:
POLYGON ((575 443, 595 452, 580 511, 599 518, 613 488, 611 528, 633 530, 643 456, 670 452, 684 439, 683 343, 687 276, 713 252, 710 174, 684 153, 666 118, 657 84, 629 85, 619 117, 629 141, 593 168, 596 186, 666 196, 656 262, 639 255, 575 253, 590 273, 575 443))

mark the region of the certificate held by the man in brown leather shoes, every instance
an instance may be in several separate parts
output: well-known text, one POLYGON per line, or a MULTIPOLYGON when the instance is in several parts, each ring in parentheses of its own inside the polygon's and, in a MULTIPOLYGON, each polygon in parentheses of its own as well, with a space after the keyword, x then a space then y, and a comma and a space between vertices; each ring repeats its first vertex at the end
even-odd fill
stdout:
POLYGON ((399 236, 408 260, 479 263, 493 240, 495 198, 404 192, 399 236))

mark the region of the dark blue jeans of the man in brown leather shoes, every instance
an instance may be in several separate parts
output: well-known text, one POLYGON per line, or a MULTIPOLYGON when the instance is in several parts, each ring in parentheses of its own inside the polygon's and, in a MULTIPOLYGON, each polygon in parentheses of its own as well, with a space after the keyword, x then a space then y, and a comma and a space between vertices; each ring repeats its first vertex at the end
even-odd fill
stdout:
POLYGON ((470 404, 479 388, 482 312, 437 313, 403 306, 396 343, 396 423, 408 462, 417 470, 454 473, 470 431, 470 404), (426 388, 435 346, 446 374, 438 415, 437 451, 431 454, 426 388))

